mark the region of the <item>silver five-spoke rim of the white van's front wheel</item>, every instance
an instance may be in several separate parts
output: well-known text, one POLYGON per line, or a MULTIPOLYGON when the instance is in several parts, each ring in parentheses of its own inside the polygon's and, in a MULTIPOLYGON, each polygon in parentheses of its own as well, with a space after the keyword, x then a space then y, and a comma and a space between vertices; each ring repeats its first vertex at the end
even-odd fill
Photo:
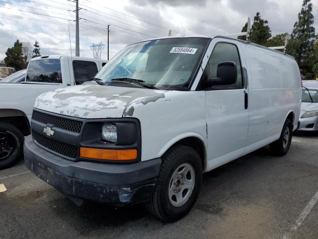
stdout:
POLYGON ((184 205, 190 198, 195 185, 194 169, 189 163, 183 163, 173 172, 168 188, 169 201, 174 207, 184 205))

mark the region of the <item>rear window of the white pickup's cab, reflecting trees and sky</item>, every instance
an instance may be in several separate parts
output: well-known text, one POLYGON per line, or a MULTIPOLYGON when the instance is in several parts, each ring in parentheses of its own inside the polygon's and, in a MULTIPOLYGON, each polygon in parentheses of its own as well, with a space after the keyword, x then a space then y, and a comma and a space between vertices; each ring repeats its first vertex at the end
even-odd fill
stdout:
POLYGON ((62 83, 60 59, 39 59, 30 61, 26 81, 62 83))

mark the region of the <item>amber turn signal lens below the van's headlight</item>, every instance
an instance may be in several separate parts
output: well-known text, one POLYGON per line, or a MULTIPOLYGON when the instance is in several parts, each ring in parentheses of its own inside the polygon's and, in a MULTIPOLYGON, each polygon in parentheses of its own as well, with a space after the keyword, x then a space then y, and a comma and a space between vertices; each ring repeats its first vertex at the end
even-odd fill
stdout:
POLYGON ((79 148, 79 156, 82 158, 102 160, 135 160, 137 149, 102 149, 102 148, 79 148))

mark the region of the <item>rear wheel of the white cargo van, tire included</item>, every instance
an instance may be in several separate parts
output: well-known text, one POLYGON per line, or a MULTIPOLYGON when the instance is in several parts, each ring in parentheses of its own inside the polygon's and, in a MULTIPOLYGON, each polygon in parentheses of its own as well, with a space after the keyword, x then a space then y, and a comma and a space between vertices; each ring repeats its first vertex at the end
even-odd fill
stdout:
POLYGON ((276 156, 284 156, 290 148, 292 137, 292 122, 290 121, 290 119, 286 119, 279 139, 269 144, 270 151, 276 156))

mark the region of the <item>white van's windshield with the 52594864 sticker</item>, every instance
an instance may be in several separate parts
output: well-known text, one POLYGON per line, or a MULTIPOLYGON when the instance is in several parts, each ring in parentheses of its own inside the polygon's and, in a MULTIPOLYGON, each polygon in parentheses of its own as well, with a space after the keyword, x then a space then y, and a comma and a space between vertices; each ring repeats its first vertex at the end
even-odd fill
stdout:
POLYGON ((168 38, 132 44, 119 52, 95 76, 103 83, 130 78, 159 89, 189 87, 208 38, 168 38))

